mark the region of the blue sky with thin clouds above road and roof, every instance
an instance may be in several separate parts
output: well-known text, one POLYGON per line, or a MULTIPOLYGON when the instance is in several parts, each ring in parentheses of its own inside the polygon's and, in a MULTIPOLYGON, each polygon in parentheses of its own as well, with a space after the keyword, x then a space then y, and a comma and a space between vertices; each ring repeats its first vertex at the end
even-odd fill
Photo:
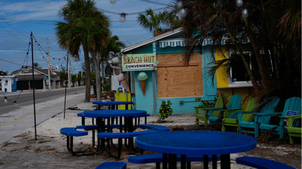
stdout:
MULTIPOLYGON (((0 69, 12 72, 20 69, 22 65, 32 66, 31 47, 29 56, 30 34, 33 32, 37 44, 34 41, 34 62, 39 63, 42 68, 47 68, 47 39, 49 46, 50 64, 66 67, 63 57, 67 52, 62 51, 56 42, 54 35, 55 28, 53 21, 62 21, 57 17, 59 9, 66 4, 65 0, 2 0, 0 2, 0 69), (43 56, 46 58, 43 60, 43 56), (53 60, 55 58, 55 61, 53 60), (59 61, 60 59, 60 61, 59 61)), ((95 0, 99 10, 111 11, 114 13, 138 13, 145 9, 165 8, 164 5, 149 3, 144 0, 117 0, 114 5, 110 0, 95 0)), ((162 4, 168 4, 170 0, 152 0, 162 4)), ((112 35, 117 35, 120 41, 124 41, 126 46, 152 38, 153 34, 143 29, 135 20, 137 14, 126 15, 126 22, 121 23, 120 15, 111 14, 104 11, 112 21, 112 35)), ((80 54, 84 62, 83 53, 80 54)), ((78 61, 78 72, 81 71, 78 61)), ((76 72, 76 62, 72 59, 71 68, 76 72)))

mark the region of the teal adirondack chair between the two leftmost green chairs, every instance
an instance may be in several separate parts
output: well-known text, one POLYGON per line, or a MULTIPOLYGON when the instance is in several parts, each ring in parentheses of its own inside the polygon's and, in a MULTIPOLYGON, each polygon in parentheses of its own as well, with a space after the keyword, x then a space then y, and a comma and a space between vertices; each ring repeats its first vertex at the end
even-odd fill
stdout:
MULTIPOLYGON (((241 106, 242 104, 241 102, 241 95, 240 94, 235 94, 233 96, 231 96, 230 98, 230 102, 228 107, 226 108, 226 110, 241 110, 241 106)), ((210 123, 213 123, 214 121, 216 121, 219 117, 220 111, 223 110, 223 108, 206 108, 204 113, 208 113, 209 117, 208 120, 210 123)), ((233 114, 229 114, 229 118, 235 118, 235 115, 233 114)))

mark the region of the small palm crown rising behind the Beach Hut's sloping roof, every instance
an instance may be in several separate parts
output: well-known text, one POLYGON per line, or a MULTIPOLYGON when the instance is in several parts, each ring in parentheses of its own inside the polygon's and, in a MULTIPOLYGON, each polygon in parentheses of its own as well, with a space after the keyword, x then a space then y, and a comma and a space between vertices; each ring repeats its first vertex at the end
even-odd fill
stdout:
POLYGON ((155 13, 151 8, 146 9, 137 17, 137 22, 150 32, 154 32, 154 36, 160 34, 158 28, 160 24, 165 22, 166 11, 155 13))

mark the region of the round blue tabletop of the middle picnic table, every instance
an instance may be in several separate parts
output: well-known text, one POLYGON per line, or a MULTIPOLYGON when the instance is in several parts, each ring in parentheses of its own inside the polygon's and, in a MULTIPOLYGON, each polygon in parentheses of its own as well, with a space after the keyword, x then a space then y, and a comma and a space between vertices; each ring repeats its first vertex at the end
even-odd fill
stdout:
POLYGON ((147 112, 144 110, 93 110, 83 112, 83 115, 88 118, 98 117, 139 117, 146 115, 147 112))

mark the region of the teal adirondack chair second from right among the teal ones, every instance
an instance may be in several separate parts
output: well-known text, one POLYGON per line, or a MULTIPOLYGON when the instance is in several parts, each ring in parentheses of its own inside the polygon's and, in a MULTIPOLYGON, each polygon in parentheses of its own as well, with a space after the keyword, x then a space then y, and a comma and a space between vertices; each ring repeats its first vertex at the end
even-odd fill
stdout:
MULTIPOLYGON (((278 102, 279 102, 279 98, 276 97, 274 100, 270 101, 268 104, 266 104, 264 107, 262 107, 262 109, 260 110, 260 113, 270 113, 270 112, 274 112, 275 107, 277 106, 278 102)), ((243 115, 244 114, 252 114, 252 112, 238 112, 237 117, 238 117, 238 127, 239 127, 239 132, 247 132, 247 133, 258 133, 258 128, 257 131, 255 131, 255 122, 254 121, 250 121, 246 119, 244 119, 243 115), (254 129, 254 131, 246 131, 244 130, 244 128, 252 128, 254 129)), ((271 117, 267 117, 267 120, 269 121, 271 119, 271 117)))

